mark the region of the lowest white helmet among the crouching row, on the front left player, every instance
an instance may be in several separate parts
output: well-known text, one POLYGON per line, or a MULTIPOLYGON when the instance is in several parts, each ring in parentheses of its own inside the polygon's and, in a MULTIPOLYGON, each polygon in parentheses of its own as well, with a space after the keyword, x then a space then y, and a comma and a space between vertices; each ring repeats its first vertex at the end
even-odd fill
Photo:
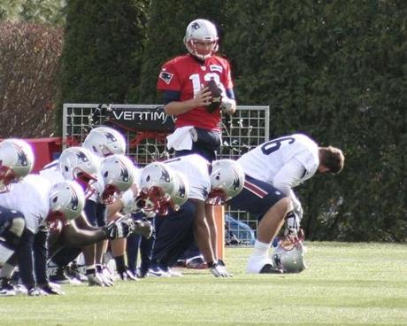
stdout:
POLYGON ((58 182, 50 190, 50 213, 47 221, 71 221, 85 206, 85 193, 77 182, 58 182))

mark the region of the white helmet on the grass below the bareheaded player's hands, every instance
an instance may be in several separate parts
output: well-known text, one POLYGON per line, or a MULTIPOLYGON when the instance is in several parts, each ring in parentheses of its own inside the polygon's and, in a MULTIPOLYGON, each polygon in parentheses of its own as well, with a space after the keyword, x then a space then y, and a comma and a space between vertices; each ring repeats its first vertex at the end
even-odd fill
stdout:
POLYGON ((284 238, 272 252, 273 266, 282 269, 284 273, 300 273, 306 268, 303 261, 305 252, 302 240, 284 238))

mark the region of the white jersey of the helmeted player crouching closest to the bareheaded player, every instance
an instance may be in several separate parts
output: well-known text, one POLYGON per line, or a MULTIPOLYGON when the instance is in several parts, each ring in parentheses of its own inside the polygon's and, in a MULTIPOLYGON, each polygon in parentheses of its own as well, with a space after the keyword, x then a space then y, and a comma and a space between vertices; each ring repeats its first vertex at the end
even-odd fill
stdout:
POLYGON ((202 156, 191 154, 168 159, 164 162, 173 170, 180 172, 188 178, 188 198, 206 200, 211 191, 211 177, 209 175, 210 163, 202 156))

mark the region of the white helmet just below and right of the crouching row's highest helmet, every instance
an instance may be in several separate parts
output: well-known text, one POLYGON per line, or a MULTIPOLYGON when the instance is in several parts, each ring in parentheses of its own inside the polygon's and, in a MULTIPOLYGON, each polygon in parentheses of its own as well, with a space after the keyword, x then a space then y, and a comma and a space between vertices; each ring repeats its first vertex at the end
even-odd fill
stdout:
POLYGON ((134 163, 125 155, 114 154, 104 158, 100 168, 104 204, 111 204, 115 198, 120 198, 134 183, 135 173, 134 163))

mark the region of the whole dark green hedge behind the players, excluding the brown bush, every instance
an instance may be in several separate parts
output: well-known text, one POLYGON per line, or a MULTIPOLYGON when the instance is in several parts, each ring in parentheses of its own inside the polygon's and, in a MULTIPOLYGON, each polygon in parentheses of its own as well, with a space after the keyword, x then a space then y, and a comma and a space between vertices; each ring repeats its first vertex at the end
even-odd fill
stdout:
POLYGON ((270 105, 272 136, 303 132, 345 153, 341 175, 315 176, 297 190, 307 237, 405 241, 406 7, 395 0, 73 0, 61 101, 157 103, 161 64, 185 51, 190 20, 211 19, 238 104, 270 105))

